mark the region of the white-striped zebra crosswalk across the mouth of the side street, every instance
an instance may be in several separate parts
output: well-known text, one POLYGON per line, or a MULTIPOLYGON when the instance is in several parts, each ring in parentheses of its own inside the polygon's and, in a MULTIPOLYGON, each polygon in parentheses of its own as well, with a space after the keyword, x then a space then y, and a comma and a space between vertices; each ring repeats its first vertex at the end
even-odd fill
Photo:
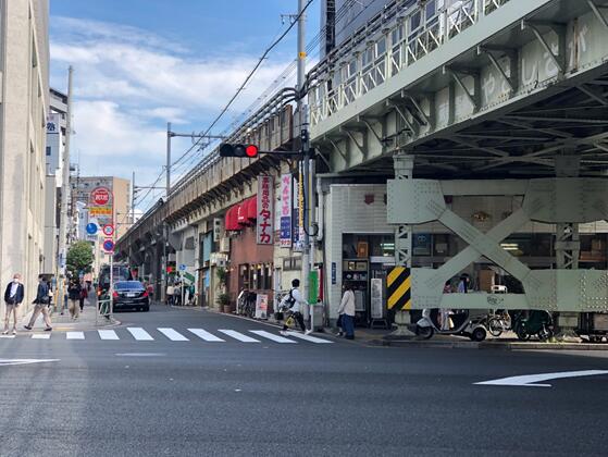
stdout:
POLYGON ((20 335, 1 335, 2 338, 14 339, 22 337, 32 339, 94 339, 94 341, 135 341, 135 342, 154 342, 170 341, 188 343, 193 341, 202 341, 206 343, 276 343, 276 344, 331 344, 333 341, 321 338, 312 335, 305 335, 298 332, 288 332, 286 336, 281 336, 266 330, 248 330, 236 331, 233 329, 218 329, 208 331, 204 329, 186 329, 175 330, 173 328, 156 328, 144 329, 140 326, 127 326, 119 329, 92 330, 86 332, 45 332, 45 333, 27 333, 20 335))

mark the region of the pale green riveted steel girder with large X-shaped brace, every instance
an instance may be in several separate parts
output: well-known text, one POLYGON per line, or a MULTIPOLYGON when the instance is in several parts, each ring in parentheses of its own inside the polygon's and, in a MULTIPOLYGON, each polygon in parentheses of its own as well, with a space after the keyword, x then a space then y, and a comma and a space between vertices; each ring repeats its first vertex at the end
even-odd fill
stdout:
POLYGON ((468 247, 439 269, 412 269, 412 307, 608 311, 608 271, 531 270, 499 243, 523 224, 585 223, 608 219, 608 180, 555 177, 512 182, 390 180, 388 222, 402 226, 439 221, 468 247), (522 207, 487 233, 449 210, 445 195, 523 195, 522 207), (443 294, 443 284, 480 257, 523 284, 524 294, 443 294))

